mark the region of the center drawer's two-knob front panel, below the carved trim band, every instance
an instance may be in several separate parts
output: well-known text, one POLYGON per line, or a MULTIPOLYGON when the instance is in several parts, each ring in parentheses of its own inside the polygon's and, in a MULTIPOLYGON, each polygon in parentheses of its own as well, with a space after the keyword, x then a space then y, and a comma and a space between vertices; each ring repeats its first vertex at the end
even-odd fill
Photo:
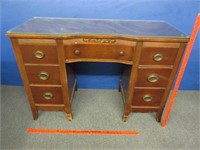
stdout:
POLYGON ((126 45, 78 44, 65 46, 66 59, 113 59, 132 61, 134 47, 126 45))

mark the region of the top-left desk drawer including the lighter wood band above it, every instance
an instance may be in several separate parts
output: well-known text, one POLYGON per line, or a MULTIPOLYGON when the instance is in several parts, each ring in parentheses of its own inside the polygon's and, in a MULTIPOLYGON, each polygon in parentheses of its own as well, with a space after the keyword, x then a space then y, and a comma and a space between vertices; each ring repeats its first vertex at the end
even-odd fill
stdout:
POLYGON ((24 63, 57 64, 56 43, 44 39, 20 39, 19 46, 24 63))

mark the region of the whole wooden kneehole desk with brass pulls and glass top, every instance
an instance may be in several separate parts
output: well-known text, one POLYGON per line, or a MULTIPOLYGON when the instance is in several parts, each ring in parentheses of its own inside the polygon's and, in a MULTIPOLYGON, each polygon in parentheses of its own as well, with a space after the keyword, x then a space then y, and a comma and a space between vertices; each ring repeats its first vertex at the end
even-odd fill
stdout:
MULTIPOLYGON (((28 95, 38 110, 63 110, 72 120, 75 62, 125 64, 119 81, 123 121, 130 112, 161 120, 189 37, 163 21, 32 18, 7 32, 28 95)), ((84 117, 84 116, 83 116, 84 117)))

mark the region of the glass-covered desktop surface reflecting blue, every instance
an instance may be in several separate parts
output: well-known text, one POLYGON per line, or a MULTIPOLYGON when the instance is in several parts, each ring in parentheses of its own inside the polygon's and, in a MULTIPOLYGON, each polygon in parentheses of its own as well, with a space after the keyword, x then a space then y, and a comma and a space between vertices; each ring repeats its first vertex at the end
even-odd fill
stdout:
POLYGON ((103 34, 139 37, 187 37, 164 21, 34 17, 7 33, 74 35, 103 34))

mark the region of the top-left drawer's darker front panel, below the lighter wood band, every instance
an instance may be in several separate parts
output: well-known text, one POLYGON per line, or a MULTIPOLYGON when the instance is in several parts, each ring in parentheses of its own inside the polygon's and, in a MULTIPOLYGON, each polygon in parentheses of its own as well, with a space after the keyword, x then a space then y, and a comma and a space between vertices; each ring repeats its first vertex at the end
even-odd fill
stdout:
POLYGON ((32 64, 58 63, 56 46, 21 45, 20 49, 24 63, 32 63, 32 64))

